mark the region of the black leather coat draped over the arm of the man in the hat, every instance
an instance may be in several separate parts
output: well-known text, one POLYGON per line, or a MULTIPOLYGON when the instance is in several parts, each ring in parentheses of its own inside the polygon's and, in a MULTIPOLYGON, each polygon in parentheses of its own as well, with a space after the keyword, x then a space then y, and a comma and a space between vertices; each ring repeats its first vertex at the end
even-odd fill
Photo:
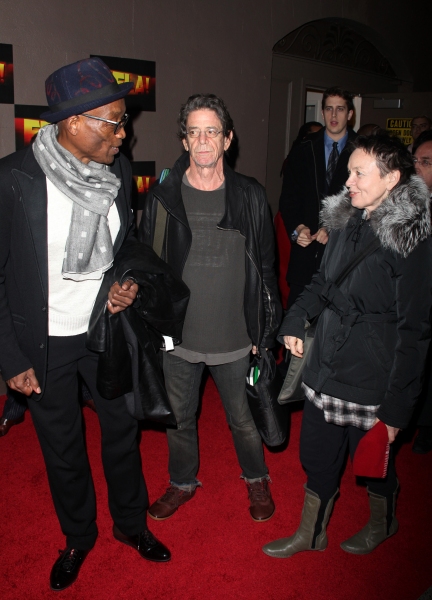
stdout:
POLYGON ((87 347, 100 353, 97 388, 101 396, 125 395, 135 418, 176 424, 158 351, 162 335, 181 342, 188 301, 187 286, 152 248, 136 240, 123 245, 104 276, 87 333, 87 347), (127 279, 139 285, 137 299, 112 315, 106 309, 109 289, 115 281, 127 279))

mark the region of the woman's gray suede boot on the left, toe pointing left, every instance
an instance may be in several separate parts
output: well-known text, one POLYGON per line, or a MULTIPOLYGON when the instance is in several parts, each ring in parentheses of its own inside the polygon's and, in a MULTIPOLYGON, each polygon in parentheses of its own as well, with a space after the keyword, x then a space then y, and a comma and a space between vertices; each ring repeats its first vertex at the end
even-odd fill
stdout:
POLYGON ((305 487, 305 499, 299 528, 289 538, 281 538, 263 546, 263 552, 275 558, 289 558, 303 550, 325 550, 327 548, 326 527, 333 508, 335 496, 321 508, 321 500, 315 492, 305 487), (321 524, 318 523, 321 517, 321 524), (314 539, 315 538, 315 539, 314 539))

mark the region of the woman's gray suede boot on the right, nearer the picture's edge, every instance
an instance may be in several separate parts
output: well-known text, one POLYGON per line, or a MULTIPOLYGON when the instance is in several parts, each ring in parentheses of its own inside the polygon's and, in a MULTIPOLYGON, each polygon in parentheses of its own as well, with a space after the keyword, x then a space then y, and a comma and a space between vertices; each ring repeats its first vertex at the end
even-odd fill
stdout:
POLYGON ((387 499, 369 491, 369 522, 361 531, 341 544, 342 550, 351 554, 369 554, 398 530, 399 523, 395 517, 396 495, 399 485, 393 495, 387 499), (390 502, 390 506, 388 506, 390 502))

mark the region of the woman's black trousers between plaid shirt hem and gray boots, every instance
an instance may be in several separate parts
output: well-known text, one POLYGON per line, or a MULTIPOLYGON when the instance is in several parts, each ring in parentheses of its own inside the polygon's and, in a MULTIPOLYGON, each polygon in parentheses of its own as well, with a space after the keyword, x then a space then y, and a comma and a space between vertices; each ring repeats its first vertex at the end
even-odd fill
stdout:
MULTIPOLYGON (((367 432, 352 425, 327 423, 324 411, 305 400, 300 434, 300 460, 307 475, 307 487, 323 502, 339 487, 347 448, 354 457, 357 445, 367 432)), ((397 488, 394 457, 390 446, 387 477, 364 479, 369 490, 380 496, 391 496, 397 488)))

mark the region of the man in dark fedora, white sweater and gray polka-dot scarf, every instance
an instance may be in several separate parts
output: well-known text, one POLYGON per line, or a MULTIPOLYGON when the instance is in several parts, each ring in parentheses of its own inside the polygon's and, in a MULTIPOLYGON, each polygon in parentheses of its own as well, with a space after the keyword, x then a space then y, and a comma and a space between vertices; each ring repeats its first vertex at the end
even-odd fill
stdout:
MULTIPOLYGON (((148 560, 169 550, 148 530, 138 422, 123 397, 96 388, 98 355, 86 334, 102 280, 125 243, 133 243, 131 168, 120 152, 125 96, 99 58, 55 71, 46 81, 48 112, 33 145, 0 161, 0 370, 29 397, 66 549, 53 590, 78 576, 96 537, 96 504, 79 405, 78 374, 95 401, 114 537, 148 560), (131 241, 132 240, 132 241, 131 241)), ((138 291, 115 283, 116 313, 138 291)))

